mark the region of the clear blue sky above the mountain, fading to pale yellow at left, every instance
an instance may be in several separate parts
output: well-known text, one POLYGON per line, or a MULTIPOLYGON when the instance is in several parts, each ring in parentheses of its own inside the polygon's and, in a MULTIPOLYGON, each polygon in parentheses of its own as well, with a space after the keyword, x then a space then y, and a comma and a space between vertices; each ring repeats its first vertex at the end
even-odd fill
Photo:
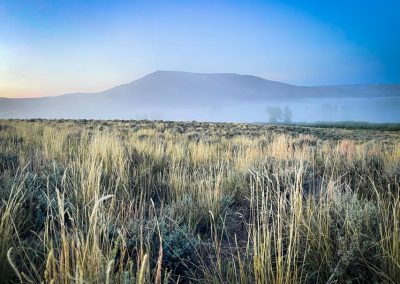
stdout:
POLYGON ((96 92, 156 70, 400 83, 400 1, 0 0, 0 97, 96 92))

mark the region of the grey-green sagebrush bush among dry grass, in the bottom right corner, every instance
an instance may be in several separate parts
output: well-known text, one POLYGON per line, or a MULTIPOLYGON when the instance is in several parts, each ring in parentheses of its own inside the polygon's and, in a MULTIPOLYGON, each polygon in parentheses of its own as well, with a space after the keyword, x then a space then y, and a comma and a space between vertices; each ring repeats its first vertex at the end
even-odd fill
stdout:
POLYGON ((330 211, 331 238, 335 240, 336 263, 332 275, 340 282, 380 282, 372 266, 378 257, 379 212, 369 201, 346 191, 333 200, 330 211))

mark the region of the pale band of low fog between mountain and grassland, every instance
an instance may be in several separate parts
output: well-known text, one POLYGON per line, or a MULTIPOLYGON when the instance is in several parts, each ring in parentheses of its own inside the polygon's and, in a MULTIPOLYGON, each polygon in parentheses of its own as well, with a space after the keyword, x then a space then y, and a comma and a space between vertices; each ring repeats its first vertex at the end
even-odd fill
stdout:
MULTIPOLYGON (((260 103, 228 103, 211 106, 142 106, 116 104, 83 104, 69 107, 38 107, 28 103, 19 110, 1 112, 0 118, 71 118, 71 119, 161 119, 218 122, 270 122, 269 107, 288 108, 291 122, 368 121, 400 122, 400 97, 274 100, 260 103)), ((1 109, 1 106, 0 106, 1 109)), ((278 122, 283 121, 282 118, 278 122)))

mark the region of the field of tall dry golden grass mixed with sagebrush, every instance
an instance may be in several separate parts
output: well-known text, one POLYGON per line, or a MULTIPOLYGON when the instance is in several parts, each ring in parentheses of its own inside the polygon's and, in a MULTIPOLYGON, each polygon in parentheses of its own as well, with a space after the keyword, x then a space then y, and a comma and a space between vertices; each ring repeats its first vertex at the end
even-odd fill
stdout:
POLYGON ((398 283, 400 132, 0 121, 1 283, 398 283))

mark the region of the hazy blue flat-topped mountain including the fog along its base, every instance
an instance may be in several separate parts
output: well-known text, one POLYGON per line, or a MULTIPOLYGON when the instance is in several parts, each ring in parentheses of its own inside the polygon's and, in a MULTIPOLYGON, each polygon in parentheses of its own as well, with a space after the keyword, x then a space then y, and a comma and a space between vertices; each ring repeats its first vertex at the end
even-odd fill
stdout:
POLYGON ((302 121, 400 121, 400 85, 304 87, 233 73, 157 71, 99 93, 0 98, 0 118, 262 121, 271 105, 289 106, 302 121))

